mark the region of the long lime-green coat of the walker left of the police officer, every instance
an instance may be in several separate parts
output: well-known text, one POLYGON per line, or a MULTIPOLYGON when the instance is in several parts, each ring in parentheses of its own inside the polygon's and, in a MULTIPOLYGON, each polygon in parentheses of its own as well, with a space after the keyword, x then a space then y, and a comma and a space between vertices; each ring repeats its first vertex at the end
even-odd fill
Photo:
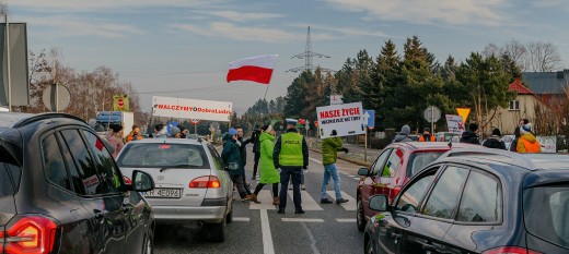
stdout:
POLYGON ((280 182, 280 173, 272 164, 272 152, 275 149, 275 136, 268 133, 260 133, 260 179, 264 184, 280 182))

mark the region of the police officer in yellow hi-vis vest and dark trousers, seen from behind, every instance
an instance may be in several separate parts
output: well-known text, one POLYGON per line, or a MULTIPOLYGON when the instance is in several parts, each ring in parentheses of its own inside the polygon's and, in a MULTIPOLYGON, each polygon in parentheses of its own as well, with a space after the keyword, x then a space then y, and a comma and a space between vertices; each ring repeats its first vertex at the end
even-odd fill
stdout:
POLYGON ((303 169, 309 167, 309 146, 304 136, 297 131, 297 120, 287 119, 287 132, 281 134, 275 144, 272 161, 275 168, 280 169, 279 209, 277 213, 284 214, 287 208, 287 189, 289 180, 292 182, 292 199, 294 202, 294 214, 304 214, 300 196, 300 183, 303 169))

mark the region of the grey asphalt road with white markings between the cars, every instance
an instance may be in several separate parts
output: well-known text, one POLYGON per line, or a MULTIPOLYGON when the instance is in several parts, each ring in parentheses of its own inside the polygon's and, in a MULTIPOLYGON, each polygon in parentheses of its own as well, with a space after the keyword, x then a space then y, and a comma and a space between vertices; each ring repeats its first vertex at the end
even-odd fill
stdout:
MULTIPOLYGON (((251 180, 253 153, 247 153, 246 173, 251 180)), ((209 242, 199 228, 163 226, 156 228, 156 254, 174 253, 362 253, 363 233, 356 228, 357 171, 360 168, 338 160, 341 190, 348 203, 320 204, 323 178, 322 155, 310 153, 306 190, 302 191, 302 205, 306 214, 295 215, 292 191, 289 191, 287 214, 277 214, 271 205, 270 186, 259 193, 262 204, 243 203, 235 194, 234 221, 228 225, 228 239, 223 243, 209 242)), ((252 190, 253 191, 253 190, 252 190)), ((334 201, 333 182, 328 184, 328 198, 334 201)))

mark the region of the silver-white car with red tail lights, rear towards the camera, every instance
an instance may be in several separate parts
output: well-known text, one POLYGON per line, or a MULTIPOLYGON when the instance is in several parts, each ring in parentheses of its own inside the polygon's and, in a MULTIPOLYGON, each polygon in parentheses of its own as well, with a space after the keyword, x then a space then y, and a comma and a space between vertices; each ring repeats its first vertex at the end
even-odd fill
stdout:
POLYGON ((144 138, 117 155, 120 170, 152 176, 156 188, 143 195, 158 225, 205 226, 212 241, 225 241, 233 219, 233 182, 216 148, 198 138, 144 138))

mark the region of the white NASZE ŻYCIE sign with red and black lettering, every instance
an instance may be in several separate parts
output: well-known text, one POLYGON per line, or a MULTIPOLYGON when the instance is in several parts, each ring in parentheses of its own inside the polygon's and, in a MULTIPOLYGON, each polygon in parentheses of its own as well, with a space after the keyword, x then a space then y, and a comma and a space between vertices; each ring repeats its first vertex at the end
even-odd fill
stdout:
POLYGON ((333 130, 337 136, 364 134, 361 102, 317 107, 316 114, 321 138, 330 137, 333 130))

